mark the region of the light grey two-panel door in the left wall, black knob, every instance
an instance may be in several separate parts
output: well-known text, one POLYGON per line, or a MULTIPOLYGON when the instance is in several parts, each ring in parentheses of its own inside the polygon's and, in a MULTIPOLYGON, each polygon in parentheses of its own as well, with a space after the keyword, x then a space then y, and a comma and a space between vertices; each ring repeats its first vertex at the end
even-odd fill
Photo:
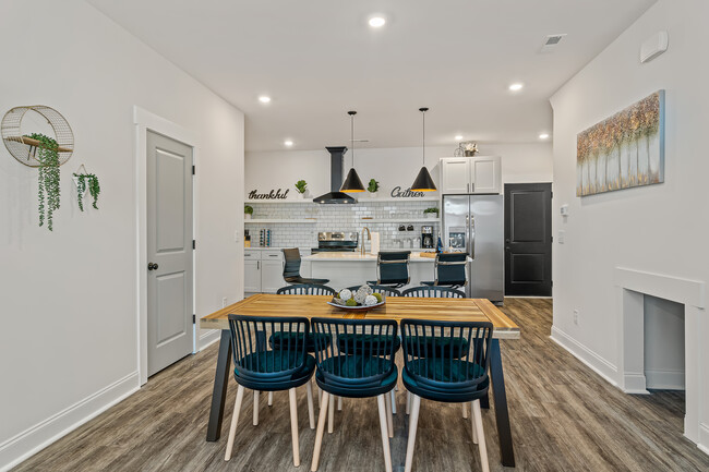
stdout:
POLYGON ((192 352, 192 148, 147 133, 147 374, 192 352))

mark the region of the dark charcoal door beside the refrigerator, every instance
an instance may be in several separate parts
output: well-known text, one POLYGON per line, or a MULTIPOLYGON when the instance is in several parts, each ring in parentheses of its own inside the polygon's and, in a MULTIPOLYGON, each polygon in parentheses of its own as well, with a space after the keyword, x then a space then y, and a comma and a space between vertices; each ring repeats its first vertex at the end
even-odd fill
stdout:
POLYGON ((552 294, 552 184, 505 184, 505 295, 552 294))

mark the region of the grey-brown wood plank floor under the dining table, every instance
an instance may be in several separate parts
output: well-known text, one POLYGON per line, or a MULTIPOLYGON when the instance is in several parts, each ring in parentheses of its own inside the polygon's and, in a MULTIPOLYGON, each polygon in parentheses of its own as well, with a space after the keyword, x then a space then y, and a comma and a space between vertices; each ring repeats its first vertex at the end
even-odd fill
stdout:
MULTIPOLYGON (((709 457, 684 438, 682 392, 628 396, 549 339, 551 300, 507 299, 504 312, 522 329, 502 341, 518 471, 709 471, 709 457)), ((216 346, 151 378, 139 392, 15 468, 15 471, 308 471, 315 433, 299 392, 301 465, 292 467, 287 392, 272 408, 261 399, 261 424, 251 425, 244 397, 235 455, 224 452, 236 396, 229 386, 223 436, 206 443, 216 346)), ((397 397, 392 455, 402 470, 408 416, 397 397)), ((376 400, 345 399, 325 434, 321 471, 384 470, 376 400)), ((500 464, 494 412, 483 410, 492 471, 500 464)), ((477 446, 460 407, 423 400, 413 469, 478 471, 477 446)), ((513 470, 513 469, 509 469, 513 470)))

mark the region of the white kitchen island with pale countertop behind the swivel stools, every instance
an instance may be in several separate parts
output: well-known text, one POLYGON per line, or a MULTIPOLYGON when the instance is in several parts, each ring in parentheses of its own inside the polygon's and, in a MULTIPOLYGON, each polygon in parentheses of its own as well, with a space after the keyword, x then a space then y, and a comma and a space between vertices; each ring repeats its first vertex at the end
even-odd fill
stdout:
MULTIPOLYGON (((304 256, 302 261, 310 263, 310 274, 302 274, 307 265, 301 268, 303 277, 329 279, 327 285, 335 290, 364 285, 368 280, 376 280, 376 254, 324 252, 304 256)), ((468 257, 468 262, 471 261, 468 257)), ((409 264, 411 282, 400 290, 419 287, 422 280, 435 280, 434 263, 434 257, 421 256, 420 252, 412 251, 409 264)), ((468 271, 468 274, 470 273, 468 271)))

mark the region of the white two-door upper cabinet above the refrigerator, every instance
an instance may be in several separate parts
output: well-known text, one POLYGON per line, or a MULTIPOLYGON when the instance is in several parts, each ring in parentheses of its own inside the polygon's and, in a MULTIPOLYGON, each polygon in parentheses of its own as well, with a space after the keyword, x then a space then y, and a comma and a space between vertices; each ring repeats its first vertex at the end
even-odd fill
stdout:
POLYGON ((444 195, 502 191, 500 156, 441 158, 441 193, 444 195))

